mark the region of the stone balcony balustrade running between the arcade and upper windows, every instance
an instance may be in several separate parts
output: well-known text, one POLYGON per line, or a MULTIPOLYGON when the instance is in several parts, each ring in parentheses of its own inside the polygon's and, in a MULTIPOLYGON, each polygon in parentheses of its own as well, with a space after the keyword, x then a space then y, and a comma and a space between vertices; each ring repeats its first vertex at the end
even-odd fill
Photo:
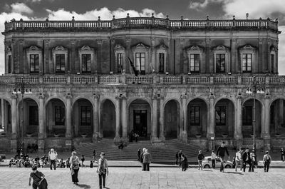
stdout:
MULTIPOLYGON (((255 75, 257 81, 266 85, 283 85, 285 84, 285 76, 264 76, 255 75)), ((23 76, 0 76, 0 85, 19 83, 22 81, 23 76)), ((209 74, 201 75, 177 75, 170 76, 165 74, 150 74, 134 76, 130 74, 118 75, 45 75, 45 76, 31 76, 24 75, 24 82, 31 84, 94 84, 94 85, 133 85, 133 84, 157 84, 157 85, 203 85, 203 84, 232 84, 232 85, 249 85, 252 83, 252 76, 212 76, 209 74)))

